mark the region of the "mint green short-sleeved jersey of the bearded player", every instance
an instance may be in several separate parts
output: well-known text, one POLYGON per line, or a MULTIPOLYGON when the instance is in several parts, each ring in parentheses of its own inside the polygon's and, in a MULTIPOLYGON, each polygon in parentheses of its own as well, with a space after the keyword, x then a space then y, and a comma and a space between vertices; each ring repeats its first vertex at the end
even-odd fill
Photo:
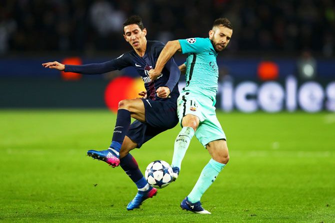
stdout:
POLYGON ((188 38, 178 41, 182 53, 187 53, 186 86, 183 91, 203 94, 215 102, 218 79, 217 53, 210 39, 188 38))

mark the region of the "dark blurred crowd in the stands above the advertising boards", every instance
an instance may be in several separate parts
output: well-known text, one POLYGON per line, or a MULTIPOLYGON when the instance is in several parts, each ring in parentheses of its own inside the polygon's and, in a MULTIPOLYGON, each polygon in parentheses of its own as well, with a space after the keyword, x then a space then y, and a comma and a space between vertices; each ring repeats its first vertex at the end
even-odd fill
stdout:
POLYGON ((121 33, 131 14, 163 42, 206 37, 223 16, 234 27, 231 51, 334 53, 333 0, 1 0, 0 54, 129 49, 121 33))

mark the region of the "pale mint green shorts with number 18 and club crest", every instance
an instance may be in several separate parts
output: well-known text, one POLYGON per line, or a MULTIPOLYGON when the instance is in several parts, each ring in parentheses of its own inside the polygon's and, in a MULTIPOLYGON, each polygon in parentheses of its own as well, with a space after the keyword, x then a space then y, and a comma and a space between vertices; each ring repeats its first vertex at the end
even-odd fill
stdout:
POLYGON ((192 114, 200 119, 195 137, 205 147, 209 142, 226 139, 220 123, 216 118, 213 101, 201 94, 181 92, 177 99, 177 115, 181 125, 182 118, 192 114))

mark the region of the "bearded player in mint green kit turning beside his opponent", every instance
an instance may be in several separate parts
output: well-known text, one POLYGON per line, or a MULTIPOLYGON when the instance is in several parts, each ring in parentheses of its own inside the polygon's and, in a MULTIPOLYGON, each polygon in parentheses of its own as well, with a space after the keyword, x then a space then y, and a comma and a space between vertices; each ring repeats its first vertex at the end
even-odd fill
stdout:
MULTIPOLYGON (((225 134, 216 118, 214 105, 218 78, 216 56, 227 46, 231 35, 232 26, 229 20, 218 18, 209 30, 209 38, 168 41, 155 68, 149 71, 150 79, 154 80, 176 51, 187 53, 186 62, 179 66, 185 73, 186 86, 177 100, 177 113, 182 129, 174 142, 172 166, 180 170, 181 161, 195 134, 208 150, 211 159, 180 207, 198 214, 210 214, 202 208, 200 198, 229 160, 225 134)), ((178 175, 174 174, 173 177, 176 179, 178 175)))

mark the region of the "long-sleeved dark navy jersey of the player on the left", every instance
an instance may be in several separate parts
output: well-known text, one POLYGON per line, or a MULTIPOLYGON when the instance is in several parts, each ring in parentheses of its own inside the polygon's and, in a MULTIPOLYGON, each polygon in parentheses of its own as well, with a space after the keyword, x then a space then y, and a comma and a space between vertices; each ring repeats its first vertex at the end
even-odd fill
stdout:
POLYGON ((126 52, 116 59, 104 63, 92 63, 84 65, 65 65, 65 72, 81 74, 101 74, 112 70, 121 70, 125 67, 134 67, 141 76, 146 89, 147 97, 151 100, 174 100, 179 96, 178 80, 180 71, 173 57, 165 64, 160 76, 151 81, 148 71, 154 68, 160 51, 164 44, 159 41, 147 41, 143 57, 140 57, 134 50, 126 52), (158 87, 166 86, 170 89, 169 98, 159 98, 155 91, 158 87))

